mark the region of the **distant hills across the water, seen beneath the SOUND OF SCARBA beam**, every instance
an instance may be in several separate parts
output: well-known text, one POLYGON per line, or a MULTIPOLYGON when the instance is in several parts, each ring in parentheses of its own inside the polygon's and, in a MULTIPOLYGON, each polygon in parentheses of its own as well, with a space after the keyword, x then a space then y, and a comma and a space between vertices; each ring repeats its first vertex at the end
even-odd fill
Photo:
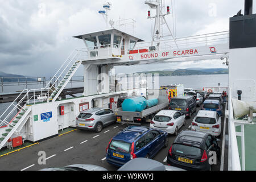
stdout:
POLYGON ((212 68, 212 69, 176 69, 175 71, 151 71, 151 72, 139 72, 139 73, 158 73, 159 76, 185 76, 185 75, 220 75, 228 74, 228 69, 224 68, 212 68))

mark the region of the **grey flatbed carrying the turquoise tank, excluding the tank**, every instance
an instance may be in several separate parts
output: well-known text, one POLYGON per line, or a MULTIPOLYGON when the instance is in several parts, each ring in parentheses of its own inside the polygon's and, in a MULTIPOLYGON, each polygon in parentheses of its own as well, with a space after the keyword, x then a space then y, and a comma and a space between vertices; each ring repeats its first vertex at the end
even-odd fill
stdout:
MULTIPOLYGON (((158 92, 158 105, 148 107, 141 112, 138 111, 123 111, 122 107, 118 107, 114 113, 117 117, 117 123, 126 123, 132 125, 141 125, 142 121, 152 119, 158 111, 168 109, 169 101, 166 90, 157 90, 158 92)), ((150 93, 155 93, 154 90, 147 90, 147 98, 150 97, 150 93)), ((154 98, 154 96, 152 97, 154 98)))

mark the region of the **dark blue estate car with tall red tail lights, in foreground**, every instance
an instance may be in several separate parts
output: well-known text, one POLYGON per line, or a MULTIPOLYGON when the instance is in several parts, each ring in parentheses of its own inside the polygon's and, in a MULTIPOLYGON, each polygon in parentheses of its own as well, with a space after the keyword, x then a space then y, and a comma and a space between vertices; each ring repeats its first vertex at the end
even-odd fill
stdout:
POLYGON ((143 126, 130 126, 113 137, 106 148, 106 161, 121 167, 134 158, 153 158, 168 146, 165 131, 143 126))

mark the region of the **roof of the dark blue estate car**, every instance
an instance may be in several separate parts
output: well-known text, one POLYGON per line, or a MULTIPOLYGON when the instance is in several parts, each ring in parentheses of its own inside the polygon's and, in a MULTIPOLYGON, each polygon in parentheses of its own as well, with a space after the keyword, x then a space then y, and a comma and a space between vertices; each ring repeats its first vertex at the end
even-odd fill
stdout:
POLYGON ((115 137, 113 137, 113 140, 121 140, 123 142, 133 143, 139 136, 149 130, 151 130, 149 127, 129 126, 126 127, 126 129, 120 131, 117 135, 115 135, 115 137))

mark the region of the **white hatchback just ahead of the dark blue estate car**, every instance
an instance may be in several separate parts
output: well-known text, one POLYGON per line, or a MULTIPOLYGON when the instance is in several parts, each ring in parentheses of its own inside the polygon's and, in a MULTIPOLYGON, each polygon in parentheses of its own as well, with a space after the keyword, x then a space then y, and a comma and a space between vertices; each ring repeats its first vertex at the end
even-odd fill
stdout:
POLYGON ((176 110, 161 110, 150 122, 151 129, 166 131, 168 134, 177 135, 177 131, 185 125, 185 114, 176 110))

